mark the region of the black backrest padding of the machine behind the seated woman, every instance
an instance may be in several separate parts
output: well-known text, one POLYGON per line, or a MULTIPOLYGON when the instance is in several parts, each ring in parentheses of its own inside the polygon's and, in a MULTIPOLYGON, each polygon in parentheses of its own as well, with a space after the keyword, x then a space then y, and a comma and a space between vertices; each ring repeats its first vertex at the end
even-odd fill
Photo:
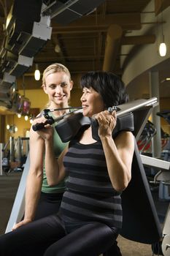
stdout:
POLYGON ((162 237, 150 187, 135 140, 131 181, 122 193, 123 228, 120 235, 139 243, 152 244, 162 237))

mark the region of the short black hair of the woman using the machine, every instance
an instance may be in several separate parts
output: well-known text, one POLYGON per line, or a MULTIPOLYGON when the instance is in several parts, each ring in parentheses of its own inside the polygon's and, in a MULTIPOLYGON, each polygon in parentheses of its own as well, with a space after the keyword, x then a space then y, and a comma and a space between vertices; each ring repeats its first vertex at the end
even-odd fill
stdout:
POLYGON ((128 94, 123 81, 112 72, 88 72, 82 76, 80 85, 82 89, 91 87, 97 91, 106 108, 128 102, 128 94))

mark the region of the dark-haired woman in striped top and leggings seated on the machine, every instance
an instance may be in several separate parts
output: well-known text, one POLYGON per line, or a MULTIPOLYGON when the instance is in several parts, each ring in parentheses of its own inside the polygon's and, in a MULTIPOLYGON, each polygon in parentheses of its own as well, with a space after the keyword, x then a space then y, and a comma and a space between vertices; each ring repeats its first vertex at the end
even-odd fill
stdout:
POLYGON ((120 195, 131 180, 134 137, 123 131, 112 138, 116 113, 107 108, 126 102, 125 86, 109 72, 88 72, 81 86, 82 113, 96 118, 100 140, 94 140, 87 127, 56 160, 50 157, 53 129, 47 126, 39 132, 45 140, 48 180, 58 183, 67 175, 67 189, 59 214, 1 236, 1 256, 98 256, 119 234, 120 195))

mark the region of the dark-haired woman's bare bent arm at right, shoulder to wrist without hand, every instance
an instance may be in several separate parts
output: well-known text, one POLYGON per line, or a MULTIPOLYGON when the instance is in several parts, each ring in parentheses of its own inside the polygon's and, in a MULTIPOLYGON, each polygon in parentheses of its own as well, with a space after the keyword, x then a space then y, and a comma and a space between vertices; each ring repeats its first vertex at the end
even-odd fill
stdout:
POLYGON ((115 141, 112 138, 102 138, 101 142, 112 186, 121 192, 131 180, 134 136, 131 132, 120 132, 115 141))

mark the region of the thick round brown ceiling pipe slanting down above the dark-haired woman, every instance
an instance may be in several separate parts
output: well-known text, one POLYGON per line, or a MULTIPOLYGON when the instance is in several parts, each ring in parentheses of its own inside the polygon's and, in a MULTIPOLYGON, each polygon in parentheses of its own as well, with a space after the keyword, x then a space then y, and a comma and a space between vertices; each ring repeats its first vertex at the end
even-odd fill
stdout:
POLYGON ((111 71, 115 66, 117 53, 120 48, 120 41, 122 39, 123 30, 117 24, 112 24, 107 30, 106 47, 104 53, 104 71, 111 71))

